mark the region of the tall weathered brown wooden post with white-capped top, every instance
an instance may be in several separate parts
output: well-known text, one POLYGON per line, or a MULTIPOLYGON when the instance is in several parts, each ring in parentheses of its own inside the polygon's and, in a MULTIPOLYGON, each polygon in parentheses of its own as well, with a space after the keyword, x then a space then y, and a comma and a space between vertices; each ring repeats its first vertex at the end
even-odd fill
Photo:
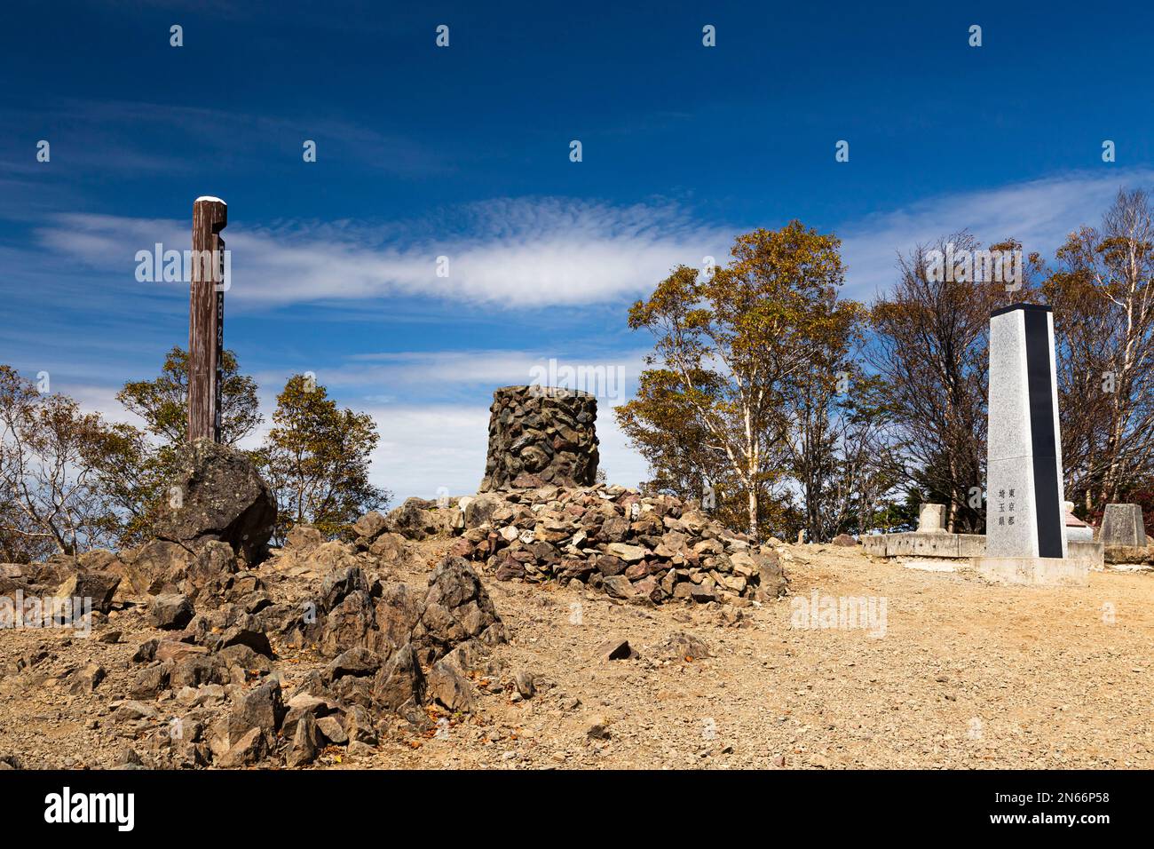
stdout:
POLYGON ((220 441, 224 352, 224 239, 228 206, 193 202, 193 274, 188 293, 188 441, 220 441))

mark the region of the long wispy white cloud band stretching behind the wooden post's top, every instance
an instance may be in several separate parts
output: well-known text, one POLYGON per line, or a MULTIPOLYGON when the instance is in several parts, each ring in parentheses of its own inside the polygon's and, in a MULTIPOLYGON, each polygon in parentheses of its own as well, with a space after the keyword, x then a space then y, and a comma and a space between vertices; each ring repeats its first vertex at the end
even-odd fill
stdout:
MULTIPOLYGON (((406 232, 417 228, 290 224, 270 230, 238 223, 225 231, 232 252, 230 303, 260 308, 390 295, 495 308, 605 303, 644 293, 677 263, 699 266, 706 255, 724 256, 730 239, 728 229, 694 223, 670 204, 557 199, 474 204, 458 210, 455 222, 432 222, 419 238, 406 232), (437 274, 441 256, 448 260, 448 276, 437 274)), ((38 238, 89 266, 129 274, 136 251, 156 243, 183 250, 188 225, 66 214, 38 238)))

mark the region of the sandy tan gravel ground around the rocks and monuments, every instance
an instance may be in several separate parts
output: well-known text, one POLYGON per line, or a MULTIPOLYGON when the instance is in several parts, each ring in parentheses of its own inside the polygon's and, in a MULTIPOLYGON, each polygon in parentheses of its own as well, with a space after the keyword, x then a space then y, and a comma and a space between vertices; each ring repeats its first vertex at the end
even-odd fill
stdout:
MULTIPOLYGON (((424 591, 451 543, 414 543, 396 578, 424 591)), ((1006 588, 860 548, 781 551, 789 595, 741 608, 630 604, 481 574, 508 642, 493 647, 490 676, 471 673, 473 712, 427 706, 422 725, 392 716, 372 745, 330 743, 305 768, 1154 766, 1154 576, 1006 588), (884 599, 884 634, 800 627, 815 594, 818 609, 824 598, 884 599)), ((178 695, 128 721, 123 712, 141 666, 132 657, 158 635, 143 604, 113 610, 88 639, 0 632, 0 759, 159 765, 158 729, 182 709, 178 695), (93 663, 106 678, 77 686, 93 663)), ((286 699, 329 662, 308 646, 272 648, 286 699)))

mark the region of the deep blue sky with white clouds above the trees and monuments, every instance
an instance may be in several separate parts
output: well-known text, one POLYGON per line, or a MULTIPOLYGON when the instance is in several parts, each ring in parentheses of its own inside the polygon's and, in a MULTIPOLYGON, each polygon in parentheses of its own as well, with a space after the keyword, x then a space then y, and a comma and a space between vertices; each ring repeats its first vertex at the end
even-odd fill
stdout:
POLYGON ((137 282, 134 256, 188 247, 212 194, 226 344, 265 412, 313 371, 375 416, 377 483, 469 492, 493 388, 549 358, 621 367, 598 425, 635 484, 609 408, 650 340, 625 310, 673 266, 800 218, 844 239, 868 300, 898 251, 964 228, 1052 255, 1154 173, 1144 6, 621 6, 7 9, 0 362, 127 418, 115 389, 187 343, 187 288, 137 282))

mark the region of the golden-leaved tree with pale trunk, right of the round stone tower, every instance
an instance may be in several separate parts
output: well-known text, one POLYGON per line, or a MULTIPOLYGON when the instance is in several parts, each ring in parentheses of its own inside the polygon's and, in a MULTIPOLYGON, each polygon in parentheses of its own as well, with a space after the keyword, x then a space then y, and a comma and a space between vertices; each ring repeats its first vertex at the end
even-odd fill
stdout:
POLYGON ((642 394, 617 420, 657 479, 725 486, 762 537, 767 501, 787 499, 790 400, 815 375, 833 378, 855 305, 838 300, 839 240, 790 222, 737 237, 732 261, 707 276, 680 266, 629 311, 655 337, 642 394))

